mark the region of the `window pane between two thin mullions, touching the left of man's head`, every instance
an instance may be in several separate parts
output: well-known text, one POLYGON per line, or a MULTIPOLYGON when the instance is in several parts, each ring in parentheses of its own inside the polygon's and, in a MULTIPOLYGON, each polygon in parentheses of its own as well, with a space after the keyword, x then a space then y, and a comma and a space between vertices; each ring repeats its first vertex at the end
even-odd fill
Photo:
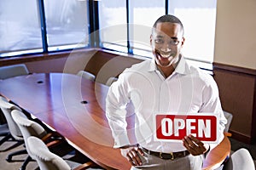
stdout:
POLYGON ((165 0, 129 1, 129 40, 133 54, 152 57, 150 34, 154 21, 165 14, 165 0))

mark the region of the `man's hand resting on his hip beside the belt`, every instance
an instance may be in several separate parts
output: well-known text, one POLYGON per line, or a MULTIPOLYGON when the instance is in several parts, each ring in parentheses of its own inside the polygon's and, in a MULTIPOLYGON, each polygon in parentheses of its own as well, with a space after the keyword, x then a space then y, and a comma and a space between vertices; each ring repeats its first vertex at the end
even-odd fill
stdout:
POLYGON ((123 146, 120 148, 122 156, 124 156, 128 161, 130 161, 132 166, 143 165, 142 160, 138 156, 144 155, 143 150, 138 148, 137 145, 123 146))

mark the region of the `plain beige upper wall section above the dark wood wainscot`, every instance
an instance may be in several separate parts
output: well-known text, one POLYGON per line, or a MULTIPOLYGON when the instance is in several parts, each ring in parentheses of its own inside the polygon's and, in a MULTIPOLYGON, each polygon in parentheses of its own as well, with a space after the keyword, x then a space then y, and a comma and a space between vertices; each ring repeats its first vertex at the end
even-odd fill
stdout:
POLYGON ((256 1, 217 1, 214 62, 256 69, 256 1))

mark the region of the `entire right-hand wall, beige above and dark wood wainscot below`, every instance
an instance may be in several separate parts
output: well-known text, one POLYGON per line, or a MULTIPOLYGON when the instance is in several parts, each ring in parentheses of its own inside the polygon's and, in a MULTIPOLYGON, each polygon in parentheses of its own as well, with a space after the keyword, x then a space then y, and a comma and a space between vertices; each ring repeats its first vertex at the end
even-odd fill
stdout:
POLYGON ((230 132, 256 141, 255 0, 219 0, 213 74, 225 111, 233 114, 230 132))

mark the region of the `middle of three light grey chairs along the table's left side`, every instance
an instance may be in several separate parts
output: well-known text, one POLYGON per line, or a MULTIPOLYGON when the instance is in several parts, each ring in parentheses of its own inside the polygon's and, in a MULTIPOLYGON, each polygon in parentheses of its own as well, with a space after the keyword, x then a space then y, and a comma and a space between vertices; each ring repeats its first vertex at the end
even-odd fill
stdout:
MULTIPOLYGON (((11 116, 20 127, 20 131, 25 141, 25 145, 27 145, 28 137, 35 136, 41 139, 47 134, 44 127, 38 124, 38 122, 33 122, 32 120, 29 120, 22 111, 14 110, 11 112, 11 116)), ((27 152, 30 155, 30 150, 27 150, 27 152)))

